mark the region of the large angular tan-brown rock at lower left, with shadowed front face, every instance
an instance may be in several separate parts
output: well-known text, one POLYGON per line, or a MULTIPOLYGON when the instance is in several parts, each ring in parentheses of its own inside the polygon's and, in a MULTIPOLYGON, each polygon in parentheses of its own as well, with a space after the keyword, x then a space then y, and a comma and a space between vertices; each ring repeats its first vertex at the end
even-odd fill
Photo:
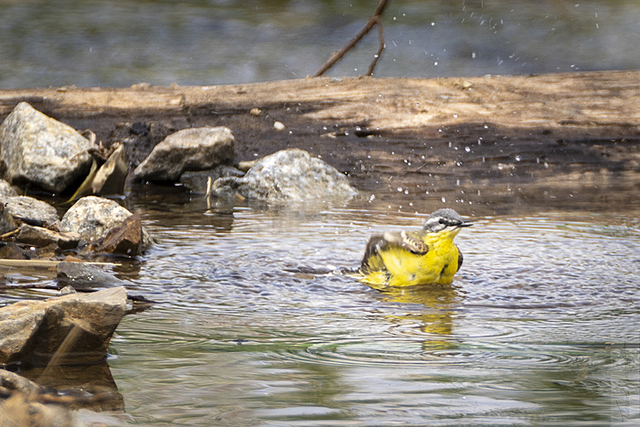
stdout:
POLYGON ((0 364, 90 365, 103 360, 126 312, 124 287, 0 308, 0 364))

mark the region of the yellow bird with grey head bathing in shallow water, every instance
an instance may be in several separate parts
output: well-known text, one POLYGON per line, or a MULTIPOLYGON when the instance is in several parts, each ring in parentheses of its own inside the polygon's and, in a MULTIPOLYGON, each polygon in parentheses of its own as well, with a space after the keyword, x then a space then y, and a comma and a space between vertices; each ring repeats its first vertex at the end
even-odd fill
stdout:
POLYGON ((421 230, 372 236, 357 278, 373 287, 451 283, 463 264, 453 238, 470 225, 473 222, 455 210, 444 208, 433 212, 421 230))

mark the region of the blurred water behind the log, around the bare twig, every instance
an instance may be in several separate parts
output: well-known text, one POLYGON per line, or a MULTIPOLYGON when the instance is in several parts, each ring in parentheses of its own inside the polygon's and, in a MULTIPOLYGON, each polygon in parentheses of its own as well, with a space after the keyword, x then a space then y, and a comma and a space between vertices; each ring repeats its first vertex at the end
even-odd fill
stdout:
MULTIPOLYGON (((302 79, 375 1, 0 2, 0 88, 302 79)), ((636 0, 393 0, 378 77, 640 68, 636 0)), ((374 30, 329 72, 366 72, 374 30)))

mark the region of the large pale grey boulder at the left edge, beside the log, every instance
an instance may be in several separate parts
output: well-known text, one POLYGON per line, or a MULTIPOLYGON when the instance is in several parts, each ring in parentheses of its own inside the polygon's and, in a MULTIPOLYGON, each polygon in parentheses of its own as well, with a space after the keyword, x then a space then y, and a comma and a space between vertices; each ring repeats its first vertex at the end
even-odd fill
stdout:
POLYGON ((91 142, 27 102, 0 125, 0 169, 12 184, 34 184, 54 193, 87 173, 91 142))

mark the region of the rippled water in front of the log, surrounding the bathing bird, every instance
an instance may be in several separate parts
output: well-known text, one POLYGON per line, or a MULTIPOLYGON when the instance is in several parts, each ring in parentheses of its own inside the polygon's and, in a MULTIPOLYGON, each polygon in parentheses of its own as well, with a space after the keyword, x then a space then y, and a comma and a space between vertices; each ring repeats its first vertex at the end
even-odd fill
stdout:
POLYGON ((451 286, 380 293, 322 273, 357 265, 372 233, 421 226, 386 203, 130 200, 157 244, 116 271, 159 304, 112 339, 129 422, 635 425, 637 207, 452 206, 476 224, 451 286))

